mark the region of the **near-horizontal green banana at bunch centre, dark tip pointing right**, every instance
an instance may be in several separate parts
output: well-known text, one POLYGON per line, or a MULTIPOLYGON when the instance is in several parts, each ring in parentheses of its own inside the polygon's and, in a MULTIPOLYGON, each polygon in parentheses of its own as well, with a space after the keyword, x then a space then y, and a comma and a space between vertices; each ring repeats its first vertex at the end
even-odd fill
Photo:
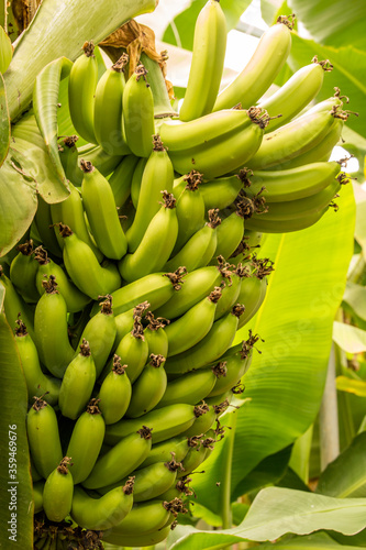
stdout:
MULTIPOLYGON (((184 283, 181 279, 185 275, 186 268, 179 267, 175 273, 152 273, 124 285, 112 293, 114 315, 123 314, 144 301, 148 301, 149 308, 154 311, 181 289, 184 283)), ((91 315, 95 312, 97 307, 91 310, 91 315)))

